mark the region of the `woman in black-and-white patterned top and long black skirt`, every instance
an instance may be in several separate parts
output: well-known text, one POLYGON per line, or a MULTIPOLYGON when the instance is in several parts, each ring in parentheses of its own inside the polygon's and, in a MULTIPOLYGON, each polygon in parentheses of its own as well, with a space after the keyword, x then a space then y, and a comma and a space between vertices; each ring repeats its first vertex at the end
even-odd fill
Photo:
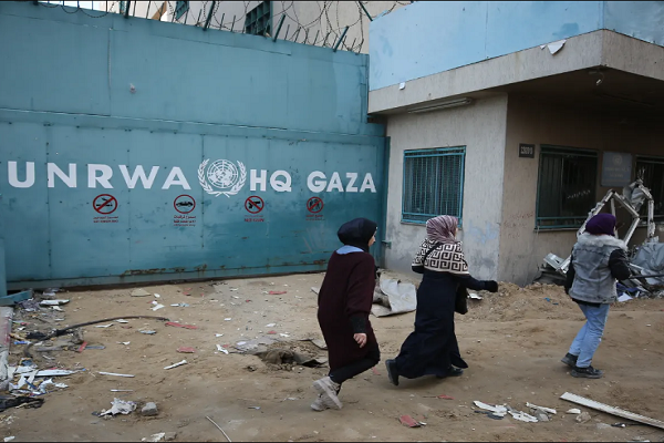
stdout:
POLYGON ((413 261, 413 270, 424 274, 417 289, 415 331, 402 344, 394 360, 386 360, 390 382, 398 377, 416 379, 436 375, 458 377, 468 368, 461 359, 454 332, 455 299, 459 286, 496 292, 498 284, 476 280, 468 272, 461 243, 456 239, 456 217, 442 215, 427 220, 427 238, 413 261))

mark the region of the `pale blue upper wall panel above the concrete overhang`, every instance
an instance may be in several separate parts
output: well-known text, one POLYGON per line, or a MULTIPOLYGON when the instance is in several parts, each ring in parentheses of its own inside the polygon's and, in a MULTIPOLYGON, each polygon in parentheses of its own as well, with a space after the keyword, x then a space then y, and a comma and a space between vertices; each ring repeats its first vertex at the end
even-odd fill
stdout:
POLYGON ((370 25, 370 89, 610 29, 664 44, 662 1, 418 1, 370 25))

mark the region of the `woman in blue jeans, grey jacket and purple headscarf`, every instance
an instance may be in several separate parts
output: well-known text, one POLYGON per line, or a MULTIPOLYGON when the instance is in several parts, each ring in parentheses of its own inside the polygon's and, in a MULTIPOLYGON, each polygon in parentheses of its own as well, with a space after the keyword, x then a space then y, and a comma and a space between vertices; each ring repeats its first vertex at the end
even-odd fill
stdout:
POLYGON ((572 249, 564 291, 574 300, 585 323, 562 362, 572 368, 572 377, 600 379, 603 371, 590 363, 602 341, 609 307, 618 300, 615 280, 630 278, 624 241, 615 238, 615 217, 598 214, 585 225, 572 249))

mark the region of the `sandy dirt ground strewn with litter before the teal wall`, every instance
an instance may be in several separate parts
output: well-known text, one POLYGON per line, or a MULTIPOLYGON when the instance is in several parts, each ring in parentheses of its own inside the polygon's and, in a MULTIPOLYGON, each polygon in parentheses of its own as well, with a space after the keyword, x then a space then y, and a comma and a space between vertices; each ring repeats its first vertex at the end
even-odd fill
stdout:
MULTIPOLYGON (((457 336, 470 365, 463 377, 446 380, 404 380, 398 388, 387 381, 384 360, 394 357, 412 331, 414 312, 371 321, 382 351, 373 371, 344 384, 341 411, 313 412, 312 381, 325 368, 272 367, 256 356, 232 351, 239 341, 257 337, 281 340, 279 347, 324 357, 307 338, 322 338, 315 320, 322 274, 234 279, 196 284, 144 286, 148 297, 132 297, 135 288, 63 291, 70 299, 64 312, 48 316, 15 310, 14 320, 27 322, 24 333, 50 327, 122 316, 164 316, 198 329, 165 326, 155 320, 128 320, 107 328, 84 328, 89 346, 105 349, 33 351, 40 369, 81 369, 56 382, 42 398, 40 409, 8 409, 0 414, 2 437, 21 441, 134 441, 160 432, 175 432, 175 441, 226 441, 212 419, 234 442, 239 441, 664 441, 664 431, 629 422, 560 399, 575 393, 634 413, 664 420, 664 300, 632 300, 612 308, 606 333, 593 364, 605 370, 601 380, 574 379, 560 362, 582 324, 582 315, 559 287, 521 289, 501 284, 500 291, 480 292, 469 300, 469 313, 457 315, 457 336), (269 291, 287 291, 270 295, 269 291), (158 293, 155 298, 152 293, 158 293), (550 300, 547 300, 549 298, 550 300), (165 308, 153 311, 153 301, 165 308), (188 303, 188 307, 172 307, 188 303), (556 305, 557 303, 557 305, 556 305), (37 317, 41 317, 37 320, 37 317), (62 321, 49 324, 49 319, 62 321), (267 324, 274 323, 268 327, 267 324), (141 330, 152 329, 155 334, 141 330), (276 332, 268 334, 268 332, 276 332), (224 334, 217 337, 216 334, 224 334), (288 337, 281 336, 287 334, 288 337), (123 342, 129 342, 123 344, 123 342), (193 347, 195 353, 178 353, 193 347), (41 356, 50 356, 48 360, 41 356), (183 359, 187 364, 164 369, 183 359), (98 372, 133 374, 134 378, 98 372), (111 390, 132 392, 111 392, 111 390), (442 400, 445 394, 453 400, 442 400), (157 416, 139 409, 128 415, 100 418, 93 412, 111 408, 114 398, 157 403, 157 416), (526 403, 553 408, 549 422, 523 423, 506 416, 492 420, 475 413, 474 401, 509 404, 528 412, 526 403), (578 423, 571 408, 589 412, 578 423), (425 422, 411 429, 404 414, 425 422)), ((111 322, 108 322, 111 323, 111 322)), ((70 339, 65 336, 59 340, 70 339)), ((13 341, 13 340, 12 340, 13 341)), ((272 346, 273 348, 274 346, 272 346)), ((24 346, 12 344, 10 364, 17 364, 24 346)), ((633 422, 630 422, 633 423, 633 422)))

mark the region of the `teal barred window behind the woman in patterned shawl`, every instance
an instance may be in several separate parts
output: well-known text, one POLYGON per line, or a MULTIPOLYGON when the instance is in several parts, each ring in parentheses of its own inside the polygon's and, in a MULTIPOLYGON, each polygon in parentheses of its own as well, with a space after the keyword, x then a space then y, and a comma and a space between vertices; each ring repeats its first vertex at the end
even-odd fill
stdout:
POLYGON ((402 222, 424 224, 447 214, 460 225, 465 158, 464 146, 405 151, 402 222))

